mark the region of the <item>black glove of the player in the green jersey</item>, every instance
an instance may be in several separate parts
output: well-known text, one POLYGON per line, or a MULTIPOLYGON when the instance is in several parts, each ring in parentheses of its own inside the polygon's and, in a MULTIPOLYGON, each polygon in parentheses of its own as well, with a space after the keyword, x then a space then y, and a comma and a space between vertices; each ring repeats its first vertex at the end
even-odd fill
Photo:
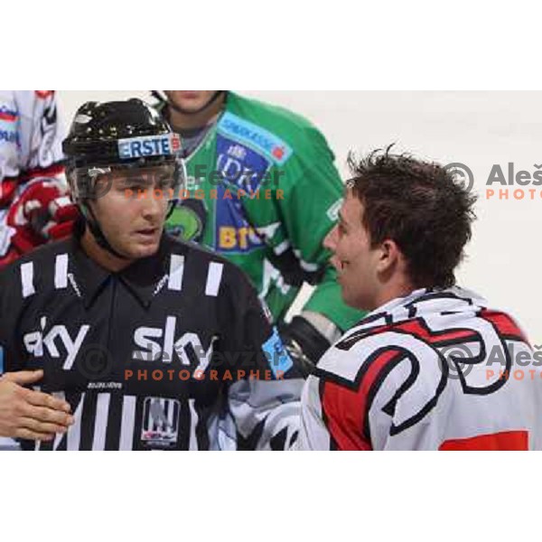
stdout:
POLYGON ((292 322, 279 324, 278 331, 288 354, 304 378, 313 373, 318 360, 332 346, 331 341, 303 316, 294 316, 292 322))

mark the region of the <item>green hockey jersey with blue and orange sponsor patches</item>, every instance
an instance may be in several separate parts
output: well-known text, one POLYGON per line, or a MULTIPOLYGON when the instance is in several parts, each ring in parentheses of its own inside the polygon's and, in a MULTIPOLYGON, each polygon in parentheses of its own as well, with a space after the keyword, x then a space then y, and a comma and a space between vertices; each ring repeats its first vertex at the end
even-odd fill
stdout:
POLYGON ((343 185, 322 134, 282 107, 229 92, 214 126, 186 159, 182 200, 169 233, 200 242, 243 269, 275 321, 304 281, 304 310, 341 330, 362 313, 341 300, 323 238, 341 207, 343 185))

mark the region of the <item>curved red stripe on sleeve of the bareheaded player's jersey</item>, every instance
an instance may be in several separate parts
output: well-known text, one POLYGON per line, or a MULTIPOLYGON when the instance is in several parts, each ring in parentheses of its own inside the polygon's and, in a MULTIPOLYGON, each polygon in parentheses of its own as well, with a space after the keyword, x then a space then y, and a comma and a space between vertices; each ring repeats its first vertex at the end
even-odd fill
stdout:
POLYGON ((398 355, 401 355, 399 350, 391 349, 375 358, 363 375, 357 391, 334 382, 324 383, 323 418, 339 450, 372 450, 369 435, 365 435, 364 432, 365 418, 370 407, 369 393, 382 370, 398 355))

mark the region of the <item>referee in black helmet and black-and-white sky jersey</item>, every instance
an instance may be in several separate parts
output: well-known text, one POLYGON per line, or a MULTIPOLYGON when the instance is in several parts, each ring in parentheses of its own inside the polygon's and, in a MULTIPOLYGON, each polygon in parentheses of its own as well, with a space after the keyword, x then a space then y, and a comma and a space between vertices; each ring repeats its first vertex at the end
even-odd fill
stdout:
POLYGON ((63 144, 75 235, 0 274, 0 435, 23 449, 294 442, 304 380, 256 290, 164 234, 178 145, 141 100, 79 108, 63 144))

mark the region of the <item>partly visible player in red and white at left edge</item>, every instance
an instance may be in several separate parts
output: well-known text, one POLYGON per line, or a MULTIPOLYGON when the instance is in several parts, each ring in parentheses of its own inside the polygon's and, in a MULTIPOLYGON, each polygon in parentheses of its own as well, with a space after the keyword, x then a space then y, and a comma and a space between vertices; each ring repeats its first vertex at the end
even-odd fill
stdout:
POLYGON ((52 90, 0 91, 0 268, 71 231, 62 135, 52 90))

